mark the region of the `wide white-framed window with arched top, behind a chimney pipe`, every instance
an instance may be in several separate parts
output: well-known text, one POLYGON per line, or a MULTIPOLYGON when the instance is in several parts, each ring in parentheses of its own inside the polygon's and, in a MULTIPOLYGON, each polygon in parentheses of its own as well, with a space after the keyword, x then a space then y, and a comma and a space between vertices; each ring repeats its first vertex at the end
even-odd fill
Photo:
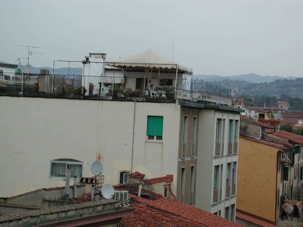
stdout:
POLYGON ((82 177, 83 162, 75 159, 55 159, 51 161, 50 177, 65 177, 66 165, 71 165, 71 177, 82 177))

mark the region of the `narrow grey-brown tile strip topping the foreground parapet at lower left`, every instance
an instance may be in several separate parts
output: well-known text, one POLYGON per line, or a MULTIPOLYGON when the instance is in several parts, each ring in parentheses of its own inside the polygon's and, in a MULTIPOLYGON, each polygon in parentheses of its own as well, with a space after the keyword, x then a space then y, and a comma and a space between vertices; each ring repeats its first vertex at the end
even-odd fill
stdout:
POLYGON ((13 220, 17 220, 17 219, 23 219, 23 218, 27 218, 27 217, 34 217, 34 216, 40 216, 40 215, 65 212, 65 211, 69 211, 69 210, 82 209, 85 207, 100 206, 100 205, 115 203, 115 202, 117 202, 117 201, 114 199, 102 199, 99 201, 76 203, 76 204, 73 203, 72 205, 35 209, 32 211, 21 212, 21 213, 16 213, 16 214, 6 214, 6 215, 0 216, 0 223, 6 222, 6 221, 13 221, 13 220))

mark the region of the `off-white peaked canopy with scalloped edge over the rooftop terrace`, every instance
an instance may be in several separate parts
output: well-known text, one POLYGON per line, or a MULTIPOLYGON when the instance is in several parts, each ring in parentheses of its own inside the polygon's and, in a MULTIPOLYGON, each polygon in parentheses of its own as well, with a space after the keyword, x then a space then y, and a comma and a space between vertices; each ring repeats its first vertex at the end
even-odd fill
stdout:
POLYGON ((158 70, 173 69, 174 71, 183 71, 192 73, 192 68, 181 65, 162 54, 159 54, 151 49, 142 53, 130 55, 127 57, 116 58, 111 61, 106 61, 105 65, 117 68, 153 68, 158 70))

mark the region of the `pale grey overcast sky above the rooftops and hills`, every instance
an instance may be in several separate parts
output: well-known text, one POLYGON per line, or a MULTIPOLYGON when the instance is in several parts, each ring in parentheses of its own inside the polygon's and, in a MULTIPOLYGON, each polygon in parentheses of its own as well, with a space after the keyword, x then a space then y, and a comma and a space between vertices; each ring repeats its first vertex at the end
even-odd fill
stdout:
MULTIPOLYGON (((152 49, 194 74, 303 77, 303 1, 0 0, 0 61, 106 59, 152 49), (25 59, 24 59, 25 60, 25 59)), ((55 62, 55 68, 68 63, 55 62)), ((82 67, 81 63, 71 67, 82 67)))

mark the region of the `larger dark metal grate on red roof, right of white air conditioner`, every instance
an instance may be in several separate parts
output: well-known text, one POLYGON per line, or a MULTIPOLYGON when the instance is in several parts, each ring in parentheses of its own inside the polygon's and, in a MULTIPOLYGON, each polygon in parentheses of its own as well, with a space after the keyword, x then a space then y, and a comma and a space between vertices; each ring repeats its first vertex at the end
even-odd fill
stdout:
POLYGON ((138 195, 140 184, 142 184, 141 197, 150 200, 156 199, 154 187, 148 180, 136 178, 129 174, 125 174, 124 182, 124 186, 129 193, 133 195, 138 195))

